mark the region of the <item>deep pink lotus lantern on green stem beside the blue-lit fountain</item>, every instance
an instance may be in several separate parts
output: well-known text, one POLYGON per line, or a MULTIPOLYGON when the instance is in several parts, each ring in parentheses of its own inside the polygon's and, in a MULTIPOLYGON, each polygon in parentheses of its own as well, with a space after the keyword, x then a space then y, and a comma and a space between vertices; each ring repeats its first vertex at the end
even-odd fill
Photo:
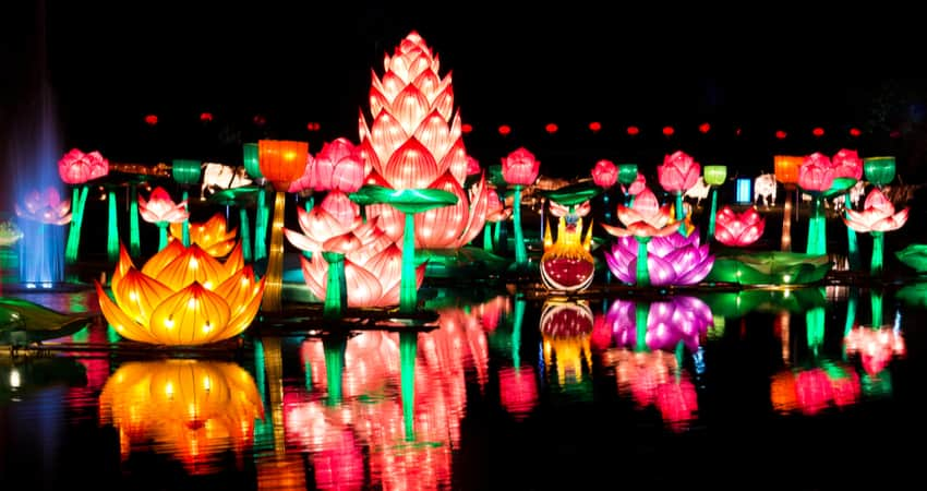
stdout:
POLYGON ((81 226, 84 223, 84 206, 87 202, 87 182, 109 173, 109 160, 99 152, 85 154, 72 148, 58 160, 58 175, 65 184, 71 184, 71 227, 68 230, 68 243, 64 247, 64 262, 77 261, 81 246, 81 226))

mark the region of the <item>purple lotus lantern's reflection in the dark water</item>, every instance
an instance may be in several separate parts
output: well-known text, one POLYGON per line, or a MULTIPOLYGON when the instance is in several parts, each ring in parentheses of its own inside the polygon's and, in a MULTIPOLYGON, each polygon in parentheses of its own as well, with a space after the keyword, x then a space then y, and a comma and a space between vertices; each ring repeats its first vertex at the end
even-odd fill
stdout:
POLYGON ((605 314, 615 344, 637 351, 672 351, 679 343, 695 351, 699 338, 713 323, 711 308, 687 296, 653 301, 649 307, 647 302, 615 300, 605 314))

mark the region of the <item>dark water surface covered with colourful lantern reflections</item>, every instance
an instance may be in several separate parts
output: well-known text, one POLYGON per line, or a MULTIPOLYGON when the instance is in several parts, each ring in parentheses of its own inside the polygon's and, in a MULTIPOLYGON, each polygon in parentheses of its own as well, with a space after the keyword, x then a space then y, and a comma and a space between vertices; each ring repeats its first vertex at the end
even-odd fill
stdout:
MULTIPOLYGON (((918 285, 444 294, 419 334, 4 352, 0 489, 889 489, 925 468, 918 285)), ((49 345, 113 342, 99 318, 49 345)))

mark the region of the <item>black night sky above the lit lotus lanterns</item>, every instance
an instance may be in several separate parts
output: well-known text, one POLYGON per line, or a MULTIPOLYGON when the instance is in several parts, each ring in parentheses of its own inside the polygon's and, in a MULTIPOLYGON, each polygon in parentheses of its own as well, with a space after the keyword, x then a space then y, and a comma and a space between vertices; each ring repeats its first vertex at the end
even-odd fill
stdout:
POLYGON ((0 46, 9 75, 0 112, 4 167, 17 165, 9 157, 11 129, 38 112, 32 103, 40 80, 49 83, 61 152, 76 146, 117 161, 154 163, 233 159, 242 141, 257 137, 309 140, 311 152, 337 136, 357 141, 371 70, 382 75, 384 53, 413 29, 440 56, 442 74, 453 71, 455 103, 473 125, 468 151, 481 161, 522 145, 542 164, 562 167, 591 167, 594 160, 586 160, 595 152, 637 158, 640 148, 623 147, 629 124, 655 135, 654 152, 687 146, 723 159, 719 148, 733 148, 725 142, 736 128, 754 135, 749 145, 782 144, 771 136, 781 128, 796 135, 791 142, 833 152, 851 127, 888 134, 918 119, 927 94, 924 80, 904 76, 923 56, 915 26, 899 25, 903 12, 845 11, 852 17, 841 19, 779 5, 747 13, 581 1, 529 9, 12 3, 4 5, 0 46), (203 123, 202 112, 213 121, 203 123), (149 113, 159 118, 156 128, 144 122, 149 113), (266 123, 255 125, 255 115, 266 123), (308 132, 310 121, 321 130, 308 132), (590 121, 603 124, 595 141, 590 121), (696 130, 706 121, 709 136, 696 130), (547 122, 561 132, 544 133, 547 122), (505 140, 496 133, 503 123, 514 129, 505 140), (660 133, 667 124, 678 128, 676 141, 660 133), (810 141, 816 125, 841 136, 810 141), (713 146, 698 141, 709 137, 713 146), (574 151, 582 163, 570 161, 574 151))

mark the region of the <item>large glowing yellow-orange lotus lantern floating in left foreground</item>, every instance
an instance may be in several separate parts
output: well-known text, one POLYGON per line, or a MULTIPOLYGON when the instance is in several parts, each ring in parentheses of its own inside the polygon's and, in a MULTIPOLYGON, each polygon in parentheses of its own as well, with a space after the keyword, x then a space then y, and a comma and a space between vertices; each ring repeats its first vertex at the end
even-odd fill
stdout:
POLYGON ((115 299, 94 280, 106 320, 123 337, 140 343, 195 346, 234 337, 261 307, 264 278, 255 282, 242 259, 241 242, 225 263, 179 240, 137 270, 120 244, 112 275, 115 299))

